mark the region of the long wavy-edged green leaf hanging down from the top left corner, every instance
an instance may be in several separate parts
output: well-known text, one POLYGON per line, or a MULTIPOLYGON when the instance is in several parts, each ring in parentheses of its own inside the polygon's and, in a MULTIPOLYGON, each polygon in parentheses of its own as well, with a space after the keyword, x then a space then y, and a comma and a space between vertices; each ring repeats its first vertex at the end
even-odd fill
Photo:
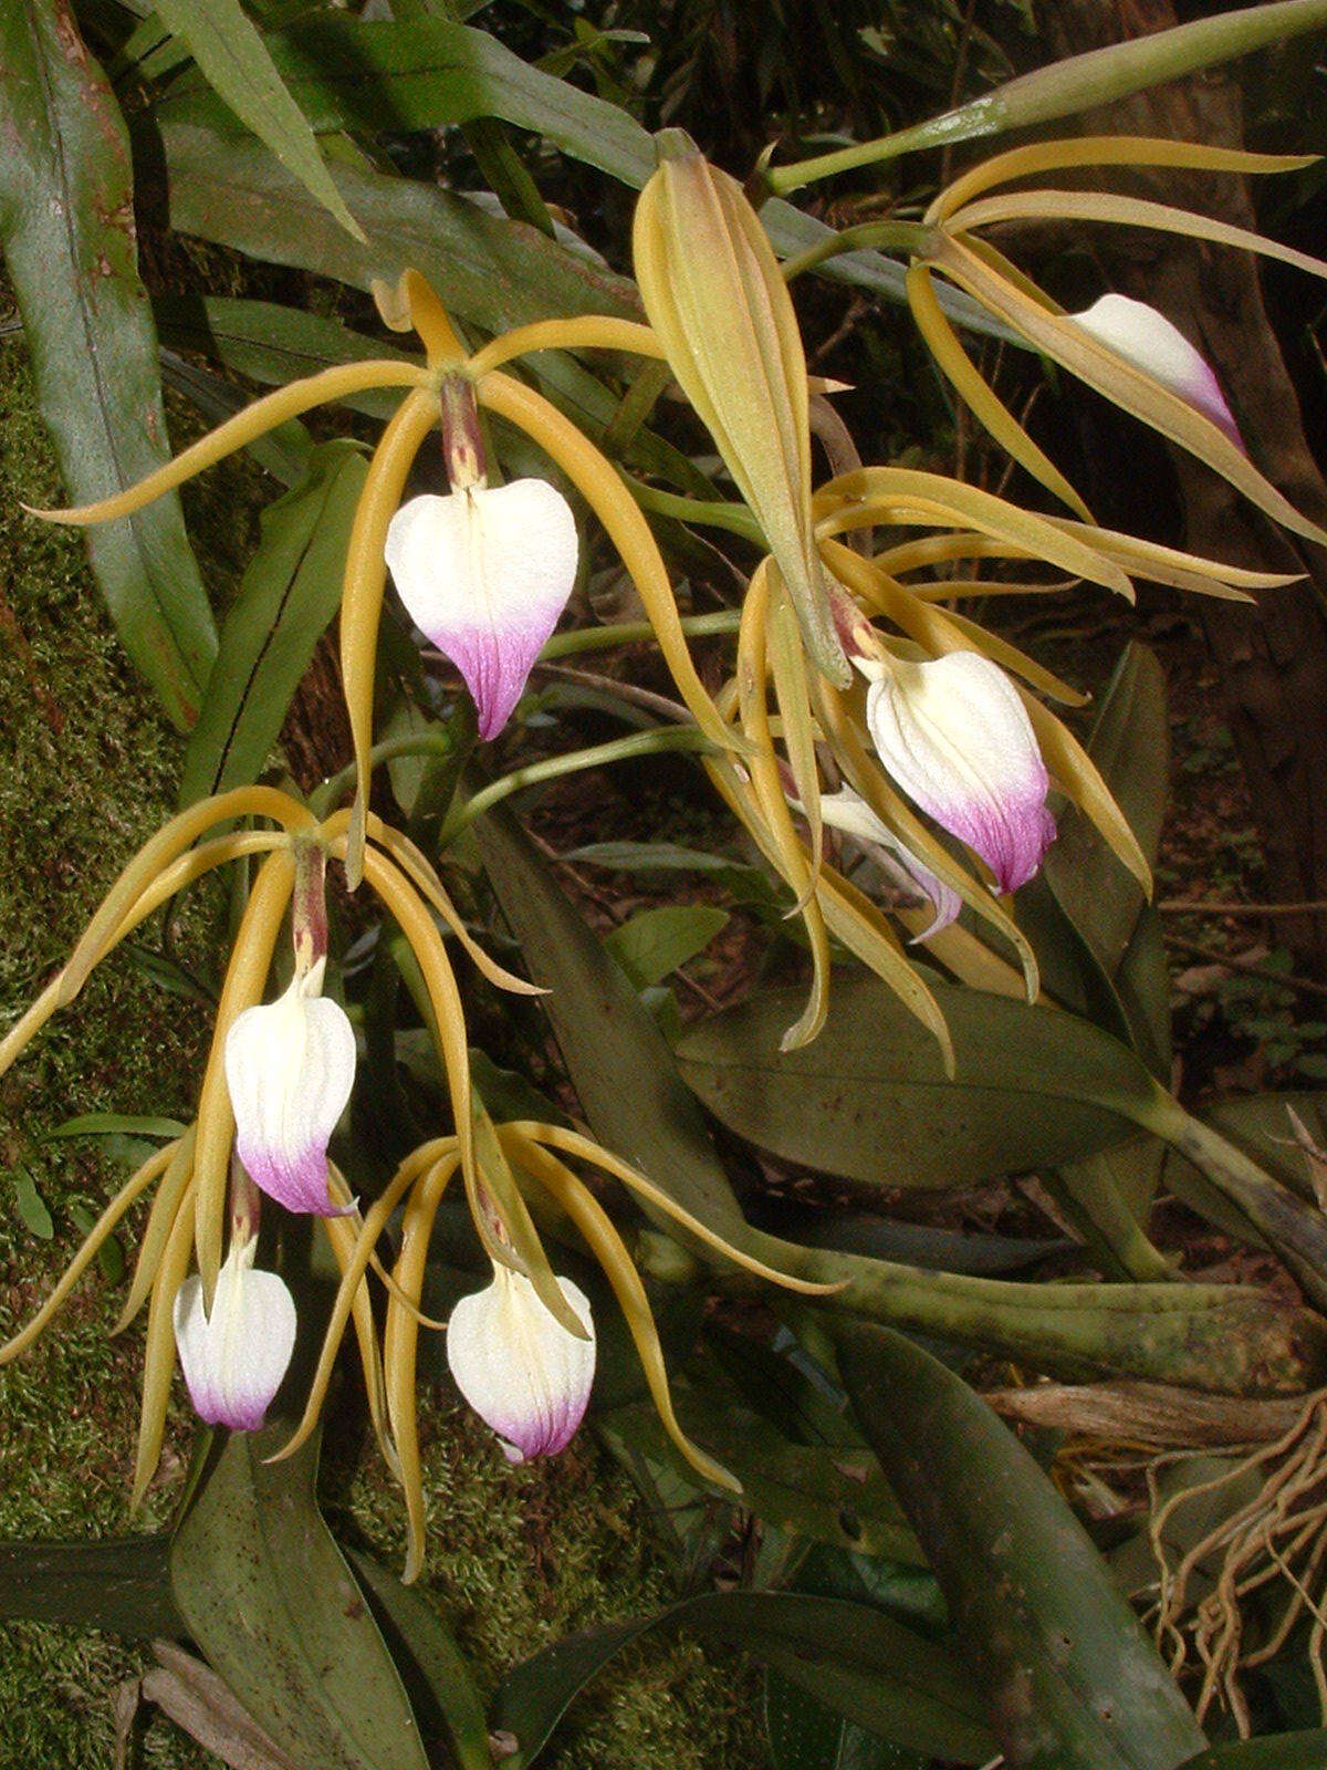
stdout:
MULTIPOLYGON (((170 455, 129 142, 67 7, 4 7, 0 67, 0 242, 60 473, 74 503, 92 503, 170 455)), ((177 494, 87 540, 126 651, 188 729, 216 632, 177 494)))

